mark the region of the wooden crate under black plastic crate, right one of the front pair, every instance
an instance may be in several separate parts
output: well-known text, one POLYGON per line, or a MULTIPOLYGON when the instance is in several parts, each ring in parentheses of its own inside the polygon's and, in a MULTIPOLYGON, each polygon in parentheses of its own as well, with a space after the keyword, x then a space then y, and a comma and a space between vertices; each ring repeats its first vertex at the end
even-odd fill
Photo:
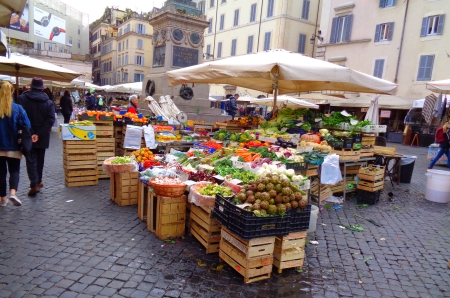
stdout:
POLYGON ((281 273, 286 268, 303 268, 305 259, 306 231, 290 233, 275 238, 273 265, 281 273))

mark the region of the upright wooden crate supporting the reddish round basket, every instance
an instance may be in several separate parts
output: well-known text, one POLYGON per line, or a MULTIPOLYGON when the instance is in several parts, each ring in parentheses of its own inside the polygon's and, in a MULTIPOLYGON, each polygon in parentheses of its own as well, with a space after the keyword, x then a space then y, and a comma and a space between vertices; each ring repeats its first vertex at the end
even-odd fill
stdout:
POLYGON ((147 206, 147 229, 159 239, 184 236, 186 220, 186 196, 169 198, 150 195, 147 206))

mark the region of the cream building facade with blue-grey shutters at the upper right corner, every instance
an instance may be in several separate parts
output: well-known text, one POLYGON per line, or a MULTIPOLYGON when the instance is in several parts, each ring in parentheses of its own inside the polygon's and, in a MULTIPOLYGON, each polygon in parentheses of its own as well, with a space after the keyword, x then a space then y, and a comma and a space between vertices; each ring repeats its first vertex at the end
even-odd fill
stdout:
POLYGON ((450 77, 448 12, 445 0, 325 0, 317 57, 395 82, 397 96, 424 98, 426 82, 450 77))

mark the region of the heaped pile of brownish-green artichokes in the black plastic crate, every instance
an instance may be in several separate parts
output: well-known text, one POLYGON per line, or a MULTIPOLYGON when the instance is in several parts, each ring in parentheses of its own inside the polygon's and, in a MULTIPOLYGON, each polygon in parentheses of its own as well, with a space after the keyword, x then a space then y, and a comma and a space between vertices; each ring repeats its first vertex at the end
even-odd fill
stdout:
POLYGON ((305 207, 308 199, 304 195, 288 178, 266 173, 249 181, 233 202, 246 204, 244 209, 253 211, 255 216, 284 215, 289 209, 305 207))

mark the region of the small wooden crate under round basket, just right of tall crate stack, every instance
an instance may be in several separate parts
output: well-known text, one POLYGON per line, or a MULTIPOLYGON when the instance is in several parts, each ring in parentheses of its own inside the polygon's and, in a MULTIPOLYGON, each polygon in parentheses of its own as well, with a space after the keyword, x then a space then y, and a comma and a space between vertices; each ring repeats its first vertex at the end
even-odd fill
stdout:
POLYGON ((138 172, 111 173, 111 200, 119 206, 136 205, 138 201, 138 172))

